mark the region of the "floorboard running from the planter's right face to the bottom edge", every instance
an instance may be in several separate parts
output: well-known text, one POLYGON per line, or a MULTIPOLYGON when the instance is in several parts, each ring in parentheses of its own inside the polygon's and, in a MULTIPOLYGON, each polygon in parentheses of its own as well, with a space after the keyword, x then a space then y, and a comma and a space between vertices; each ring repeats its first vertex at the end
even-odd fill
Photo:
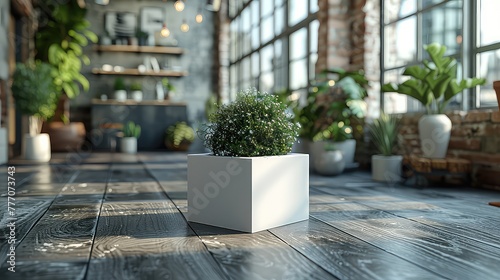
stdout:
POLYGON ((315 218, 269 231, 340 279, 440 278, 315 218))

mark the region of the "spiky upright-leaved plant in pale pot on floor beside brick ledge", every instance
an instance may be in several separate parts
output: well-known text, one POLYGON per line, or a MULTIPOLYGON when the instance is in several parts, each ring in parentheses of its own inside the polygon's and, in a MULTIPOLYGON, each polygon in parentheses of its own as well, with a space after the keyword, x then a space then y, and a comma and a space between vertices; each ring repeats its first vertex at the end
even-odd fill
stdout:
POLYGON ((382 112, 368 124, 371 140, 380 154, 372 156, 372 178, 375 181, 397 182, 401 179, 403 156, 395 155, 399 118, 382 112))

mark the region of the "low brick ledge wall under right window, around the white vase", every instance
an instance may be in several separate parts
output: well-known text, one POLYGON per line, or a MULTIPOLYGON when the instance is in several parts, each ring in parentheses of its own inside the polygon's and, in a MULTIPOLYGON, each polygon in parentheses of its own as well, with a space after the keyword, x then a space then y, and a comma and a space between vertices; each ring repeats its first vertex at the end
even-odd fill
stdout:
MULTIPOLYGON (((447 115, 453 123, 448 156, 472 162, 475 186, 500 188, 500 111, 453 111, 447 115)), ((403 116, 400 133, 404 148, 400 153, 422 154, 418 138, 420 116, 403 116)))

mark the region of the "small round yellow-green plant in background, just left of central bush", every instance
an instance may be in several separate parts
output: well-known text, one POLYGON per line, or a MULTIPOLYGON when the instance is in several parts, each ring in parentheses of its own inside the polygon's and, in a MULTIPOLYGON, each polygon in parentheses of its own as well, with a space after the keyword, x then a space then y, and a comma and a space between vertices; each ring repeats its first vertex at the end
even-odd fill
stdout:
POLYGON ((194 141, 194 130, 186 122, 177 122, 165 131, 165 146, 171 151, 187 151, 194 141))

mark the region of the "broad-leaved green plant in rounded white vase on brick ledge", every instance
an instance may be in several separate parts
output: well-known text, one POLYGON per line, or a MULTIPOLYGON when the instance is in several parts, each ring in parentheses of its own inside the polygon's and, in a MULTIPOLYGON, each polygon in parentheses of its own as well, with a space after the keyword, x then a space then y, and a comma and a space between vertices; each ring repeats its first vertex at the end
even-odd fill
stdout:
POLYGON ((418 123, 422 152, 429 158, 444 158, 452 127, 450 118, 444 114, 446 106, 464 89, 482 85, 486 81, 479 78, 458 81, 458 63, 452 57, 444 57, 445 46, 432 43, 425 45, 424 49, 431 61, 424 60, 423 66, 407 67, 403 75, 408 76, 408 80, 401 84, 385 84, 382 91, 406 94, 422 103, 427 110, 418 123))

